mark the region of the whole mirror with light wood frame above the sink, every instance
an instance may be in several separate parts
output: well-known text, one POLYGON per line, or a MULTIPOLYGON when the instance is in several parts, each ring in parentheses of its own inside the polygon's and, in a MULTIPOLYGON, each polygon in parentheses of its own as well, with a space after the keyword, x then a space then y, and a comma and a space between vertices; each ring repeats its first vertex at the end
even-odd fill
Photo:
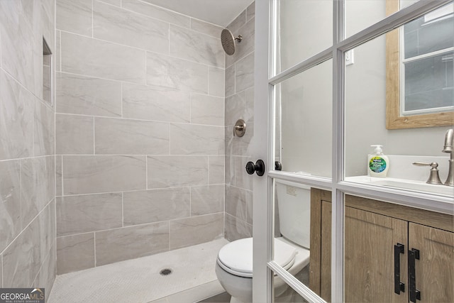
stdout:
MULTIPOLYGON (((387 0, 388 13, 403 1, 387 0)), ((387 128, 452 125, 454 4, 386 35, 387 128)))

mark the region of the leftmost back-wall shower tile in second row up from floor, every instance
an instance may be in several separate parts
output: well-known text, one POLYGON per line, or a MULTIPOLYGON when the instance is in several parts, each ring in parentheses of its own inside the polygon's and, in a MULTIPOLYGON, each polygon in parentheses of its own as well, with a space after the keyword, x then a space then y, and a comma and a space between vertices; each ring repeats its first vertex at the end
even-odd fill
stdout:
POLYGON ((57 198, 57 236, 121 226, 121 193, 57 198))

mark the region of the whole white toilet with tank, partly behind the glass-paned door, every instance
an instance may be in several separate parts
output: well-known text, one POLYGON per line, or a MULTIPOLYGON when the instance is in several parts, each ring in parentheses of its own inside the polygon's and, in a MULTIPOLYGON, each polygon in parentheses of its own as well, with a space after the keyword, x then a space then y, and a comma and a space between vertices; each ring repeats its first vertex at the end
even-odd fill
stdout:
MULTIPOLYGON (((309 264, 311 224, 311 189, 302 184, 276 180, 279 230, 275 238, 275 262, 292 275, 309 264)), ((219 250, 216 276, 231 294, 233 302, 253 301, 253 238, 243 238, 226 244, 219 250)), ((287 290, 275 275, 275 297, 287 290)))

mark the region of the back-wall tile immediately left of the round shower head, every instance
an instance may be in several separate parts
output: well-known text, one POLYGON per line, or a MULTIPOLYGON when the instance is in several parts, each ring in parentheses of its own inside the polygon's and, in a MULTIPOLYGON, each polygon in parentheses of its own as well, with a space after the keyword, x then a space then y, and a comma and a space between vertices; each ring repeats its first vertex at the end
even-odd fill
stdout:
POLYGON ((170 25, 170 55, 206 65, 224 67, 221 38, 197 39, 196 31, 170 25))

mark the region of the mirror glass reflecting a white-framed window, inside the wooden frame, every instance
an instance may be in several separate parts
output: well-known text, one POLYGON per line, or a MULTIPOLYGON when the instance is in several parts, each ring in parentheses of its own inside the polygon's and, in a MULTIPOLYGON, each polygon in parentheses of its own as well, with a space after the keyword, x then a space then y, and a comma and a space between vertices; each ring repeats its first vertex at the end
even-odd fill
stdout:
POLYGON ((401 115, 453 111, 454 4, 399 31, 401 115))

